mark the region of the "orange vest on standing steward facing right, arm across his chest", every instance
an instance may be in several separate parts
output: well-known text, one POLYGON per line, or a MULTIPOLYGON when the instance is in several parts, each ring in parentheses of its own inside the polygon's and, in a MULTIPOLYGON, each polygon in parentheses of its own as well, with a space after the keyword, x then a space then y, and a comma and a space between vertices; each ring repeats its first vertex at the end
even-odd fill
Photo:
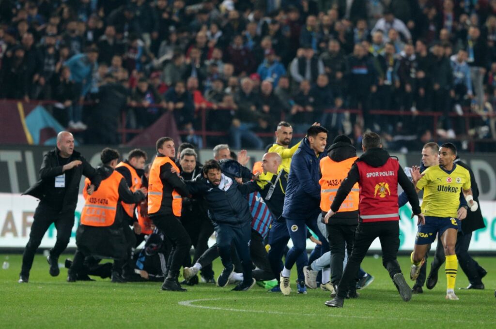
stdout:
MULTIPOLYGON (((179 167, 169 157, 155 157, 152 167, 150 168, 150 178, 148 178, 148 215, 155 214, 162 206, 162 197, 164 194, 164 184, 160 179, 160 167, 164 164, 171 164, 177 172, 179 167)), ((174 216, 181 217, 183 207, 183 198, 176 190, 172 191, 172 212, 174 216)))

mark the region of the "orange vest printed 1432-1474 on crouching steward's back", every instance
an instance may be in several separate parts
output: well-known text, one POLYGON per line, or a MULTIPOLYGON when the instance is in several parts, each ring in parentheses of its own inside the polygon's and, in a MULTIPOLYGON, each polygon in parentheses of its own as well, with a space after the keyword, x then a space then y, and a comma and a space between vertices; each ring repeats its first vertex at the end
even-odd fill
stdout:
POLYGON ((91 184, 90 180, 84 180, 83 196, 86 202, 81 212, 81 224, 110 226, 114 223, 119 201, 119 184, 123 178, 123 175, 114 170, 109 177, 102 180, 98 190, 91 195, 86 192, 86 186, 91 184))

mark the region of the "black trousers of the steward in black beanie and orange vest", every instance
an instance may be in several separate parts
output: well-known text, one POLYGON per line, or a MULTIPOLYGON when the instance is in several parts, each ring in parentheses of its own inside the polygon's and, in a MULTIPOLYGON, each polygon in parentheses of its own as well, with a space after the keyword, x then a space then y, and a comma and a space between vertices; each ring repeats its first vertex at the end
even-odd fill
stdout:
POLYGON ((339 284, 343 276, 345 249, 348 250, 348 255, 351 255, 357 225, 332 224, 326 227, 331 251, 331 282, 339 284))

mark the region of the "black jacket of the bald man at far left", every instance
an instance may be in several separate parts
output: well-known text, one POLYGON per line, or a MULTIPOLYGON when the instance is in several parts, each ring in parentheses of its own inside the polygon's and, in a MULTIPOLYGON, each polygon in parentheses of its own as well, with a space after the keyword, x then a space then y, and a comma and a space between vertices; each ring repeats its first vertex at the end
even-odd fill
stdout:
POLYGON ((73 167, 65 172, 62 171, 63 164, 60 163, 59 149, 49 151, 43 157, 43 163, 40 168, 40 180, 23 193, 40 199, 40 204, 49 205, 52 208, 59 209, 58 205, 53 204, 53 200, 63 200, 60 205, 62 214, 74 216, 76 210, 77 196, 79 194, 79 182, 81 176, 85 175, 91 180, 91 183, 98 189, 101 177, 95 168, 89 164, 79 152, 74 151, 67 159, 67 163, 74 160, 80 160, 82 164, 73 167), (55 177, 66 173, 65 188, 55 187, 55 177))

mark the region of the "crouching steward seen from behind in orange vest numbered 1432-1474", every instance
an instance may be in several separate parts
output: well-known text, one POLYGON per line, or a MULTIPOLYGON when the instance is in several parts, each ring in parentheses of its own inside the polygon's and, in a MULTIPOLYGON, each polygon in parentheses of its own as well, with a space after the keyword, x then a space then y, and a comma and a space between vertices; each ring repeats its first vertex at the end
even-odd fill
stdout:
MULTIPOLYGON (((97 169, 103 178, 98 191, 91 195, 83 190, 85 204, 81 212, 81 224, 76 232, 77 250, 72 266, 68 270, 67 282, 75 282, 84 274, 84 259, 87 256, 114 259, 112 282, 124 282, 122 268, 127 257, 126 236, 121 202, 135 204, 145 198, 146 189, 131 192, 117 170, 119 162, 117 150, 105 148, 100 154, 103 166, 97 169)), ((88 178, 85 186, 90 185, 88 178)))

